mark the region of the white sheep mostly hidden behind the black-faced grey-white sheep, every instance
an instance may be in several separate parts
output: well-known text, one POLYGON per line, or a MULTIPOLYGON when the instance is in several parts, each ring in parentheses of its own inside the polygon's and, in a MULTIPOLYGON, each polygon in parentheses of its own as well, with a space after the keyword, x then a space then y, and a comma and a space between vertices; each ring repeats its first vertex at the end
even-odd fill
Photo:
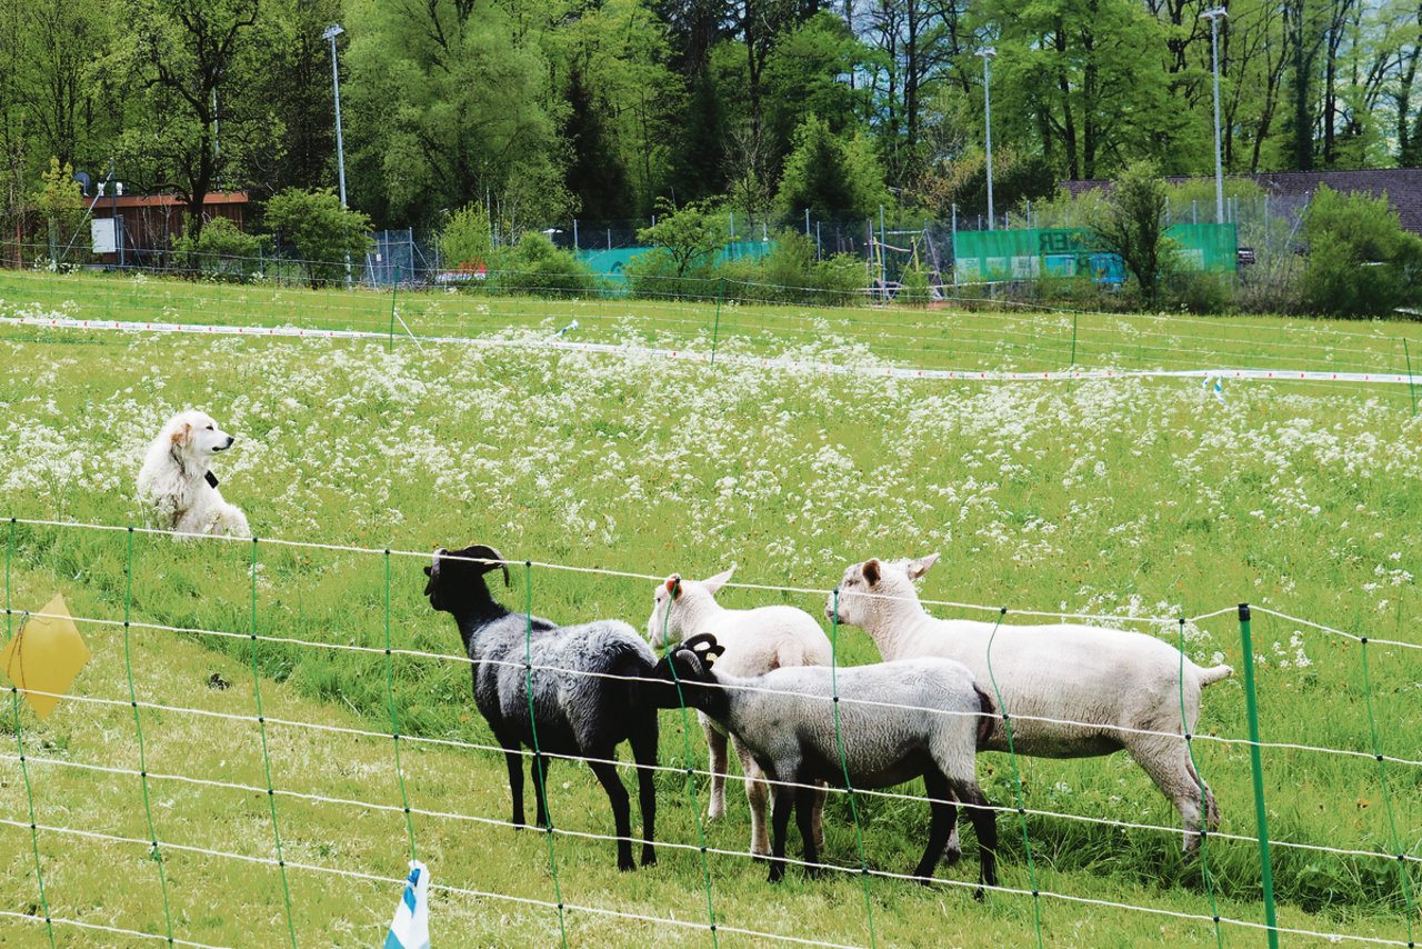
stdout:
MULTIPOLYGON (((651 616, 647 619, 647 639, 656 647, 680 643, 691 633, 711 633, 725 650, 720 672, 729 676, 759 676, 785 666, 828 666, 829 639, 809 613, 793 606, 759 606, 757 609, 724 609, 715 593, 735 566, 705 580, 683 580, 671 575, 657 585, 651 616)), ((727 733, 714 719, 697 713, 710 751, 711 802, 707 815, 714 821, 725 815, 727 733)), ((745 773, 745 798, 751 807, 751 852, 766 857, 771 841, 765 824, 765 804, 769 788, 765 775, 755 765, 749 750, 731 737, 735 754, 745 773)), ((820 814, 823 792, 813 807, 815 841, 825 845, 820 814)))

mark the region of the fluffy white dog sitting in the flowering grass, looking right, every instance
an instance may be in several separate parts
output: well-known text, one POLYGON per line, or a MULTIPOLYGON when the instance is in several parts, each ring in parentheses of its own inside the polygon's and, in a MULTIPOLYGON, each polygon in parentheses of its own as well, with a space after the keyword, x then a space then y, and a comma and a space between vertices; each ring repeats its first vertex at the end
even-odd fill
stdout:
POLYGON ((138 497, 159 528, 179 534, 252 536, 247 518, 222 499, 213 455, 236 441, 201 411, 178 413, 148 445, 138 472, 138 497))

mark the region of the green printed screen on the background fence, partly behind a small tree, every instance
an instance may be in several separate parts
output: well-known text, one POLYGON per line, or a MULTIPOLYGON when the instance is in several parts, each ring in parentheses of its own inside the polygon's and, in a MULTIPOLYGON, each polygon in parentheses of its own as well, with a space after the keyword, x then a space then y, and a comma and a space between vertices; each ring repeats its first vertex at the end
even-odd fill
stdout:
MULTIPOLYGON (((1234 272, 1239 236, 1233 223, 1177 223, 1166 229, 1189 270, 1234 272)), ((1101 249, 1085 228, 960 230, 954 239, 956 283, 1091 277, 1122 283, 1121 258, 1101 249)))

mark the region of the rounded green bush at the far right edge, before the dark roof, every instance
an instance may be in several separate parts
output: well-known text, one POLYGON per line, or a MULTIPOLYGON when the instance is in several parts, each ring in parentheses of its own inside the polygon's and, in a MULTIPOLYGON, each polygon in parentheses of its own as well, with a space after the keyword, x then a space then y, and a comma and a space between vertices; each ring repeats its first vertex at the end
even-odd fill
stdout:
POLYGON ((1304 218, 1304 306, 1337 316, 1386 316, 1418 299, 1422 238, 1402 230, 1386 196, 1320 186, 1304 218))

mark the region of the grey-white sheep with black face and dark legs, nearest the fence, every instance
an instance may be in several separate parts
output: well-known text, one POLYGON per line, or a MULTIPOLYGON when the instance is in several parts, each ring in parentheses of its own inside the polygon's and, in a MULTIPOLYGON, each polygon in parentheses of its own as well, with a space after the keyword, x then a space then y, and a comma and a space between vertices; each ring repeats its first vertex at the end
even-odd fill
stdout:
POLYGON ((849 784, 860 790, 923 778, 931 815, 929 845, 912 871, 921 884, 933 878, 956 824, 956 802, 970 805, 981 858, 977 898, 983 898, 984 884, 997 885, 997 824, 974 773, 977 747, 991 730, 993 703, 963 663, 912 659, 850 666, 838 670, 838 682, 823 666, 742 679, 712 669, 721 653, 722 646, 705 633, 673 647, 653 672, 661 686, 656 701, 675 707, 684 699, 705 711, 749 748, 772 781, 772 884, 785 875, 791 808, 809 872, 820 872, 809 807, 815 795, 803 785, 828 781, 843 787, 848 771, 849 784), (843 701, 836 697, 840 694, 843 701))

